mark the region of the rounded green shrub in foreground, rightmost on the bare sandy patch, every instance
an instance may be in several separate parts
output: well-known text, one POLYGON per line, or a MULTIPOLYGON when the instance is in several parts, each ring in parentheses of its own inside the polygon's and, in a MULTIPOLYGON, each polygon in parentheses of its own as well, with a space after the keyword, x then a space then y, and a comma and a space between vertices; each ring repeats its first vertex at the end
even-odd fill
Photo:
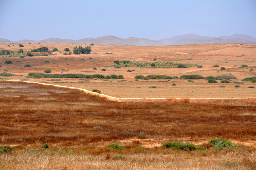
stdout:
POLYGON ((238 146, 227 139, 212 139, 209 141, 214 146, 215 150, 223 150, 225 148, 238 148, 238 146))

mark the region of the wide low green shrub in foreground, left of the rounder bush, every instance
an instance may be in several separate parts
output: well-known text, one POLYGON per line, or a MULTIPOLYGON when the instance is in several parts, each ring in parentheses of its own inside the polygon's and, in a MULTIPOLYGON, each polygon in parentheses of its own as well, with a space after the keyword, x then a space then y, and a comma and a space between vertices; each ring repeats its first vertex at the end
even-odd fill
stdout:
POLYGON ((162 144, 162 148, 171 148, 173 150, 183 151, 195 151, 197 149, 195 144, 181 141, 165 142, 162 144))

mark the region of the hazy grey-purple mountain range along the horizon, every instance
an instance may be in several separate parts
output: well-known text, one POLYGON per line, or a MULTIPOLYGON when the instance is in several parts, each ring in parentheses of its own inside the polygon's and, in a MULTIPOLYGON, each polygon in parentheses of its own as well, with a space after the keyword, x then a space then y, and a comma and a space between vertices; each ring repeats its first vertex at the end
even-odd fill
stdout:
POLYGON ((79 40, 49 38, 40 41, 23 39, 20 41, 10 41, 0 38, 0 44, 28 44, 28 43, 64 43, 64 44, 105 44, 105 45, 137 45, 137 46, 162 46, 162 45, 190 45, 190 44, 222 44, 222 43, 241 43, 256 44, 256 38, 249 35, 235 34, 232 36, 221 37, 202 37, 196 34, 178 35, 172 38, 160 39, 159 41, 146 38, 118 38, 112 35, 98 38, 84 38, 79 40))

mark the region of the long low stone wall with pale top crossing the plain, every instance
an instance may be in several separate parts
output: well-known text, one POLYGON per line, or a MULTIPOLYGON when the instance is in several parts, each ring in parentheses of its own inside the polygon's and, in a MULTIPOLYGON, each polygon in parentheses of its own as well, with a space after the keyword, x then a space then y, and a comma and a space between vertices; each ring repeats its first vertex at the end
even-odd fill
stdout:
POLYGON ((5 82, 26 82, 26 83, 34 83, 34 84, 42 84, 45 86, 54 86, 60 88, 69 88, 69 89, 77 89, 83 91, 85 94, 92 94, 98 97, 106 98, 109 101, 116 102, 151 102, 151 103, 162 103, 162 102, 191 102, 191 103, 199 103, 199 102, 222 102, 222 101, 239 101, 239 102, 256 102, 256 98, 117 98, 111 97, 105 94, 99 94, 97 92, 92 92, 89 90, 85 90, 82 88, 76 87, 67 87, 67 86, 59 86, 54 84, 46 84, 46 83, 38 83, 38 82, 27 82, 20 80, 1 80, 5 82))

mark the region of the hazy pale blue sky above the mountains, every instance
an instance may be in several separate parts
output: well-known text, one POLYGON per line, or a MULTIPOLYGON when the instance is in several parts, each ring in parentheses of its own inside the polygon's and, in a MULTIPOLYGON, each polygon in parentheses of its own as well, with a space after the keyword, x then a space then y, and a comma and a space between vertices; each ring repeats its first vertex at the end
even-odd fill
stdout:
POLYGON ((0 38, 256 37, 256 0, 0 0, 0 38))

